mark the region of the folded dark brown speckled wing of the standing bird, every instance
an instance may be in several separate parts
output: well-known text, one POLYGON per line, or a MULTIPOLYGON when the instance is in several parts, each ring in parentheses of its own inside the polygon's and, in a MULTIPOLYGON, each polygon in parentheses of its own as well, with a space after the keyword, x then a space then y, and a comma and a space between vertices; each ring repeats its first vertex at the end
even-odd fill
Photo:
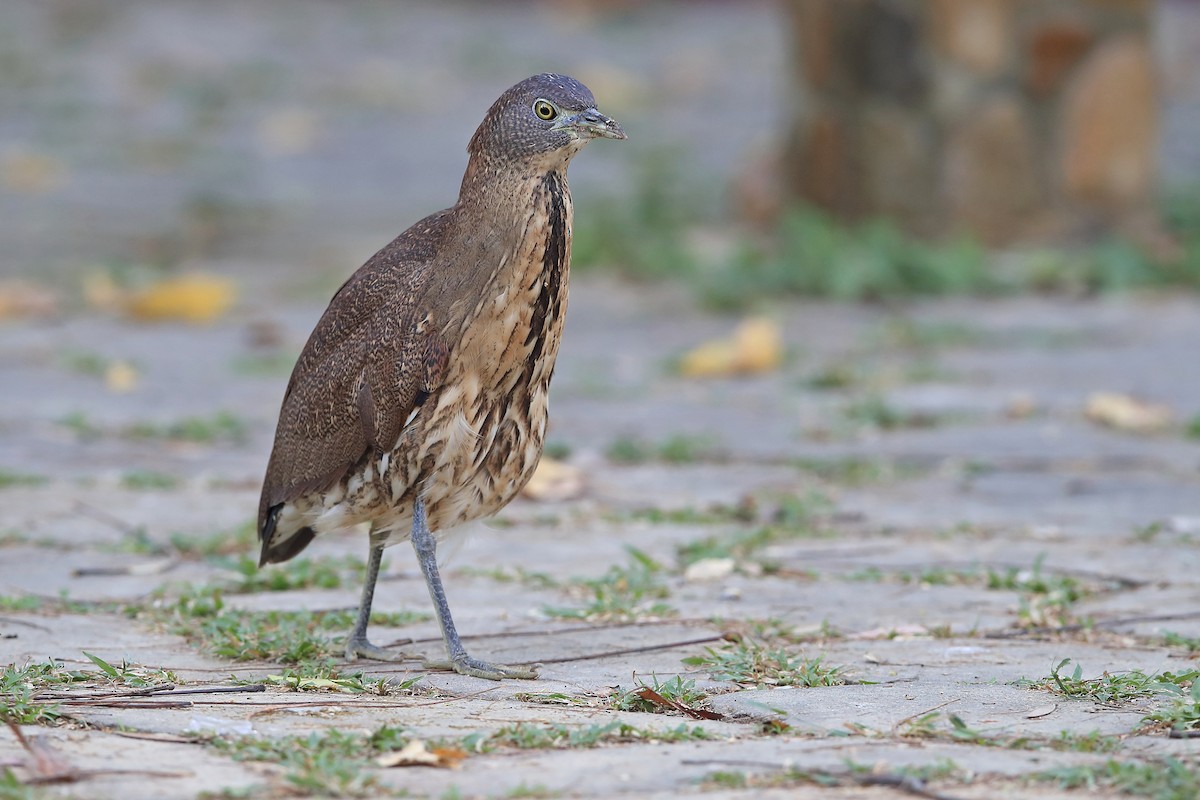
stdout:
POLYGON ((346 476, 368 451, 392 449, 414 408, 440 383, 446 348, 419 300, 446 212, 401 235, 334 295, 288 381, 258 509, 346 476))

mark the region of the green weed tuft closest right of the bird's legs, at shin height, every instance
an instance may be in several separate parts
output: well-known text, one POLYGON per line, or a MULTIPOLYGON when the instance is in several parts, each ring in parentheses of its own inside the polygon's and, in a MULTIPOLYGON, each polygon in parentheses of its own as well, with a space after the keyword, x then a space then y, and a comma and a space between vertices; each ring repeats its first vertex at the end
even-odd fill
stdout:
POLYGON ((676 610, 662 602, 668 595, 662 566, 646 553, 629 547, 629 566, 613 566, 600 578, 576 579, 564 588, 589 600, 582 608, 545 607, 542 613, 559 619, 635 620, 668 616, 676 610))

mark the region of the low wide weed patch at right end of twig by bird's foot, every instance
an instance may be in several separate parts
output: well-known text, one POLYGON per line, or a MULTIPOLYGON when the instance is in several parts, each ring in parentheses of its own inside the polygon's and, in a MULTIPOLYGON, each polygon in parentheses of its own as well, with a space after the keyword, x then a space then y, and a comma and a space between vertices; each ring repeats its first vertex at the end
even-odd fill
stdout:
POLYGON ((846 682, 841 667, 828 667, 821 657, 805 658, 786 648, 770 648, 752 640, 730 642, 706 655, 683 663, 706 670, 713 680, 743 686, 840 686, 846 682))

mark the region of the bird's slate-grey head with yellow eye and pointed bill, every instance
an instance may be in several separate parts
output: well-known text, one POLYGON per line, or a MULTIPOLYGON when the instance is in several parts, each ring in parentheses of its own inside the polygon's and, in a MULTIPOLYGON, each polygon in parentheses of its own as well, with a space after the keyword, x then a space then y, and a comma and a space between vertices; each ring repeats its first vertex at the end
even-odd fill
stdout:
POLYGON ((595 97, 575 78, 544 73, 512 86, 484 118, 467 151, 504 160, 564 161, 595 138, 624 139, 616 120, 596 110, 595 97))

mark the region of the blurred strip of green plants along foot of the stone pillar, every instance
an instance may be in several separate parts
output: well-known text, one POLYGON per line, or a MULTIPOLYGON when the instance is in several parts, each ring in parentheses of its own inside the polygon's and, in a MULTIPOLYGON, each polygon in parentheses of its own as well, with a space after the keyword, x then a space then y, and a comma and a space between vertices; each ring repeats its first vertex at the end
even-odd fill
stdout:
POLYGON ((712 308, 779 296, 842 301, 1016 293, 1200 288, 1200 186, 1168 193, 1160 218, 1177 252, 1110 234, 1092 245, 989 252, 968 236, 925 241, 887 219, 846 224, 788 209, 767 234, 722 222, 718 193, 656 154, 630 196, 576 216, 574 264, 638 281, 679 281, 712 308))

